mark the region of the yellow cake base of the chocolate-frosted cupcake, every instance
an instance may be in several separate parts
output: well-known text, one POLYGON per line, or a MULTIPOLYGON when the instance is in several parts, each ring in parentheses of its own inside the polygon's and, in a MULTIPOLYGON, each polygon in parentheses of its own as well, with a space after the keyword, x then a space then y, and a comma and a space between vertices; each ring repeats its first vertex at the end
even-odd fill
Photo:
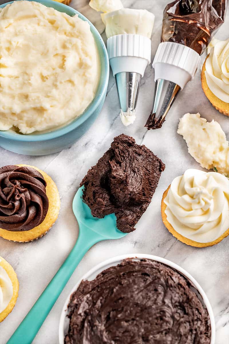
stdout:
POLYGON ((30 165, 17 165, 17 166, 28 166, 40 172, 44 180, 46 181, 46 195, 48 197, 49 206, 48 212, 44 221, 37 227, 30 230, 24 230, 21 232, 13 232, 12 230, 0 228, 0 236, 7 240, 18 241, 19 243, 27 243, 29 241, 36 240, 44 236, 49 229, 54 225, 60 210, 60 196, 56 184, 51 177, 44 171, 30 165))

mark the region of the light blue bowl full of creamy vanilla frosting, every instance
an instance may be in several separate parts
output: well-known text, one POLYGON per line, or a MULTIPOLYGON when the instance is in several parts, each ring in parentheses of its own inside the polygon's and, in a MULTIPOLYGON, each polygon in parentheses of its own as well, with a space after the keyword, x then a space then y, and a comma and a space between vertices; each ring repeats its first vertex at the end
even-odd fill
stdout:
POLYGON ((1 5, 0 18, 0 146, 32 155, 69 147, 104 103, 109 68, 100 34, 51 0, 1 5))

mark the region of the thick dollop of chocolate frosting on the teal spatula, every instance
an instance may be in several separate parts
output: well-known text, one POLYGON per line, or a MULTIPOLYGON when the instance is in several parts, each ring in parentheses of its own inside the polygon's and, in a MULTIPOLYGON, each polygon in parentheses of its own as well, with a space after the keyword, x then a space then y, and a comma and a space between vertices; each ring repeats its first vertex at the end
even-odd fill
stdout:
POLYGON ((163 162, 146 146, 124 134, 83 178, 83 200, 93 216, 115 213, 117 228, 132 232, 156 190, 163 162))

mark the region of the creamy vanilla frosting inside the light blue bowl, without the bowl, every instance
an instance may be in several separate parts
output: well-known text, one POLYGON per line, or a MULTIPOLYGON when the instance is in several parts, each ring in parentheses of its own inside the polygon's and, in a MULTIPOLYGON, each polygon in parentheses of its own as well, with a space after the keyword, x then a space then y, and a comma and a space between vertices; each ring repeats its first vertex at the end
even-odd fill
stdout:
POLYGON ((0 130, 52 130, 79 117, 100 76, 90 25, 34 1, 0 11, 0 130))

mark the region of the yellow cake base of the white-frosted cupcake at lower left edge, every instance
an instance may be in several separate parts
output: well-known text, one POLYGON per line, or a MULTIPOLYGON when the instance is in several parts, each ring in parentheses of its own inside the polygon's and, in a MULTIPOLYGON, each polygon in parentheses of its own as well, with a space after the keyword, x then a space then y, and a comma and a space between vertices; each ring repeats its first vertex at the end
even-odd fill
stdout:
POLYGON ((7 272, 13 286, 13 296, 8 304, 8 306, 0 313, 0 322, 2 322, 7 315, 13 310, 16 300, 18 298, 19 282, 16 275, 16 272, 12 266, 2 257, 0 257, 0 266, 7 272))

